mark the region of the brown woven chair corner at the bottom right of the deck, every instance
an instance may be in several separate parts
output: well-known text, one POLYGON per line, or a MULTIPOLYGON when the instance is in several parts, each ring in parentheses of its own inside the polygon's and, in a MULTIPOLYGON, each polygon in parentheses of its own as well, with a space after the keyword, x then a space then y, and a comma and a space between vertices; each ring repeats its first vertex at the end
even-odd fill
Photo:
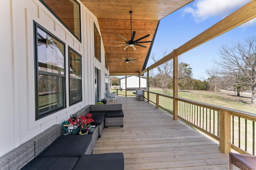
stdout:
POLYGON ((256 156, 229 152, 229 163, 230 170, 233 169, 232 165, 240 168, 241 170, 255 170, 256 156))

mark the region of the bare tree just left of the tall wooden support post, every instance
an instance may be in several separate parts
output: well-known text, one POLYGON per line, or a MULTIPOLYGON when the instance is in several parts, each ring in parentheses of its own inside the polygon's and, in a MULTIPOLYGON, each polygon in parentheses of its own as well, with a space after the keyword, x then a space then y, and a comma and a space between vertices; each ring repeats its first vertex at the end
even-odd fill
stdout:
MULTIPOLYGON (((163 58, 167 55, 167 51, 164 51, 160 57, 163 58)), ((159 57, 156 57, 156 55, 153 53, 151 55, 151 58, 153 59, 154 62, 157 62, 159 60, 159 57)), ((168 61, 160 66, 157 67, 158 70, 158 74, 161 78, 161 82, 162 82, 162 87, 161 87, 161 92, 163 93, 164 91, 166 91, 167 86, 170 85, 170 83, 172 82, 170 75, 172 74, 172 70, 173 70, 173 62, 168 61)))

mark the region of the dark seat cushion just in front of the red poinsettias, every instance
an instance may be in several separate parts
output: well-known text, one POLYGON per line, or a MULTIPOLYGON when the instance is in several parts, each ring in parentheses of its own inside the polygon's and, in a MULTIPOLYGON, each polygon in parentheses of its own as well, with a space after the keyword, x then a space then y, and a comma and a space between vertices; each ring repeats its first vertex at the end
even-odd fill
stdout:
POLYGON ((91 140, 92 135, 62 135, 39 156, 80 156, 86 152, 91 140))

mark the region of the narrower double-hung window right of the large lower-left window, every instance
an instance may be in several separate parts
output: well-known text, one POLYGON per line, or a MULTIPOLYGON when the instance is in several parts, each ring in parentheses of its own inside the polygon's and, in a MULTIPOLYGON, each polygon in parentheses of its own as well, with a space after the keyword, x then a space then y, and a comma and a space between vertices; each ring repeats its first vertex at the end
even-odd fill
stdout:
POLYGON ((82 101, 82 56, 69 47, 69 104, 82 101))

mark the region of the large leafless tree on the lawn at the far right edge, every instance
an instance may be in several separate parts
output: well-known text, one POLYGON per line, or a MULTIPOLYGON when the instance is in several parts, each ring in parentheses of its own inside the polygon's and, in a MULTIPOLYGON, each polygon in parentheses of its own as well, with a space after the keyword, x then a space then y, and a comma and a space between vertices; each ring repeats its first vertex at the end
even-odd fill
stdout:
MULTIPOLYGON (((249 87, 252 90, 251 104, 256 105, 256 39, 248 37, 244 43, 233 43, 233 47, 224 45, 220 49, 218 65, 222 78, 239 90, 249 87)), ((219 74, 219 75, 220 75, 219 74)))

